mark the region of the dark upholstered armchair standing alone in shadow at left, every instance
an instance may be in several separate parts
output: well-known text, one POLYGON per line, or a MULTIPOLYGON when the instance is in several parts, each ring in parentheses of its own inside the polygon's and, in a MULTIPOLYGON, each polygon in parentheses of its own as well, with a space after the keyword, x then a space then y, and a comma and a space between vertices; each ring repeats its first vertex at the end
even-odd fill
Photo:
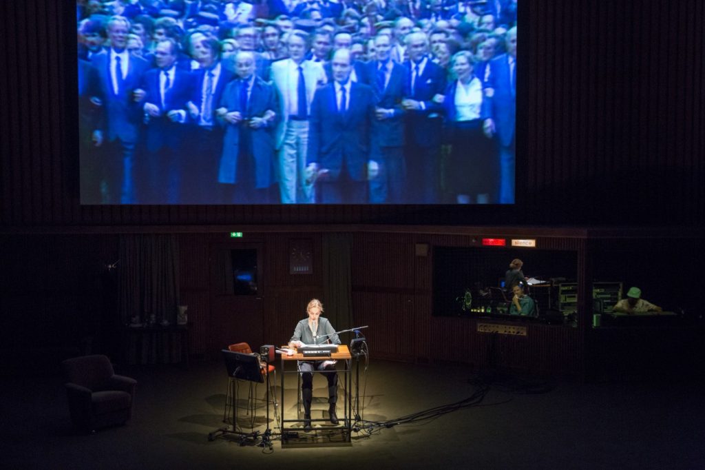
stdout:
POLYGON ((61 365, 66 376, 68 409, 76 428, 95 431, 130 419, 137 381, 116 375, 107 356, 75 357, 61 365))

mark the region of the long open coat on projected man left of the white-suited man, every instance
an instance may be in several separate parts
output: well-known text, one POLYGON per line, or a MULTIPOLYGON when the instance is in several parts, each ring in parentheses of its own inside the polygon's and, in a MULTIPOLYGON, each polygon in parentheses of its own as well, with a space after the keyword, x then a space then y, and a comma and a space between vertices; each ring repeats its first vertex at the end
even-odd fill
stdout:
MULTIPOLYGON (((262 78, 255 77, 252 83, 247 109, 240 106, 240 88, 242 80, 233 80, 225 88, 219 107, 225 107, 228 112, 239 111, 245 119, 262 117, 267 110, 278 114, 278 101, 274 87, 262 78)), ((252 139, 252 157, 255 159, 255 187, 269 188, 274 183, 274 131, 276 121, 259 129, 246 128, 244 123, 224 123, 226 128, 223 140, 218 181, 220 183, 238 183, 238 155, 240 154, 240 138, 243 132, 250 133, 252 139)))

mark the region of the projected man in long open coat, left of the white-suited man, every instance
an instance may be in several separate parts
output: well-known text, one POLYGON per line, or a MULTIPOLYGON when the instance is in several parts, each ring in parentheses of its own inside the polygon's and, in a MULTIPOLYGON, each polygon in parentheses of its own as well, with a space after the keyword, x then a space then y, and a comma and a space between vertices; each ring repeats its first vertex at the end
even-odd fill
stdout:
POLYGON ((238 79, 227 85, 216 110, 226 128, 218 182, 231 186, 223 188, 227 203, 271 203, 277 99, 255 67, 252 52, 238 52, 238 79))

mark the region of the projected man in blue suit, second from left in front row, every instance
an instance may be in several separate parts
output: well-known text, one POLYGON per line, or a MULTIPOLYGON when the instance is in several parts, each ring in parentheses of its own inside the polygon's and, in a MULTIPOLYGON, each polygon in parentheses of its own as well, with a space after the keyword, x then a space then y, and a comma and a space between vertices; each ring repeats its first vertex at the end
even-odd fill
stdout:
POLYGON ((144 112, 144 147, 137 164, 140 203, 181 202, 183 134, 186 104, 192 96, 192 75, 176 66, 178 45, 162 40, 154 49, 151 68, 135 93, 144 112))

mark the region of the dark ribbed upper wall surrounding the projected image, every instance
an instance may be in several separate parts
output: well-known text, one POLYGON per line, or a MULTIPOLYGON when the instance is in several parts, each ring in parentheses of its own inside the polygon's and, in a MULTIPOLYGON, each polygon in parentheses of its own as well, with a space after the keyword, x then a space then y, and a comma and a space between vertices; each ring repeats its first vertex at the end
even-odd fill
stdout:
POLYGON ((479 207, 85 207, 73 3, 0 2, 0 227, 703 224, 705 5, 520 2, 517 193, 479 207))

